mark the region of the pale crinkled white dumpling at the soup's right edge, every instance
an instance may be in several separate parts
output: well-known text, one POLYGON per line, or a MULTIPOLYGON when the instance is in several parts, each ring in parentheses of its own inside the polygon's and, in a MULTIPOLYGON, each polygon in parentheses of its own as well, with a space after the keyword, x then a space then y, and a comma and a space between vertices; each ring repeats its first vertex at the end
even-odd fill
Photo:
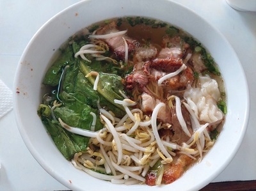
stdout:
POLYGON ((218 108, 217 102, 220 100, 220 90, 216 80, 209 75, 200 76, 198 88, 188 88, 184 93, 188 105, 195 112, 200 121, 215 123, 223 119, 223 112, 218 108))

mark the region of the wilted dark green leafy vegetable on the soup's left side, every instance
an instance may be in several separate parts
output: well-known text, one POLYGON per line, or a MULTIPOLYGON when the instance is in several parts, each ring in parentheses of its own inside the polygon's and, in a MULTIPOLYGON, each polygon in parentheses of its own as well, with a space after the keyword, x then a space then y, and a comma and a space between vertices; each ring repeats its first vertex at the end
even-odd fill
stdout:
POLYGON ((68 132, 60 125, 58 118, 70 126, 90 130, 93 112, 97 116, 95 130, 100 130, 103 125, 99 118, 99 105, 118 117, 124 116, 124 109, 114 103, 115 99, 123 99, 120 95, 120 91, 123 91, 122 78, 119 75, 104 73, 115 73, 118 68, 104 66, 104 61, 97 61, 88 66, 86 61, 74 57, 84 43, 86 41, 74 37, 70 39, 67 47, 62 48, 60 57, 47 70, 43 80, 45 85, 52 88, 52 93, 47 95, 43 100, 44 104, 38 107, 38 116, 57 148, 68 160, 74 157, 75 153, 85 151, 90 138, 68 132), (93 90, 95 78, 85 77, 94 69, 100 73, 98 91, 93 90), (57 98, 61 102, 58 106, 54 103, 57 98))

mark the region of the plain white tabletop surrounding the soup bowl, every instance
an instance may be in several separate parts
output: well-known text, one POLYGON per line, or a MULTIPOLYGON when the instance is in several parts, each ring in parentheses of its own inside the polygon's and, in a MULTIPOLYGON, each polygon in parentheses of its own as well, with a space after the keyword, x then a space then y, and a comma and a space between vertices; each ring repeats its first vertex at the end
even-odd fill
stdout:
MULTIPOLYGON (((175 1, 196 11, 224 34, 241 60, 250 89, 250 121, 244 141, 232 162, 213 182, 256 180, 256 12, 236 11, 225 0, 175 1)), ((6 86, 14 88, 17 64, 33 34, 56 13, 76 2, 0 0, 0 79, 6 86)), ((235 78, 236 73, 234 86, 235 78)), ((0 190, 68 190, 29 153, 13 111, 0 119, 0 163, 0 190)))

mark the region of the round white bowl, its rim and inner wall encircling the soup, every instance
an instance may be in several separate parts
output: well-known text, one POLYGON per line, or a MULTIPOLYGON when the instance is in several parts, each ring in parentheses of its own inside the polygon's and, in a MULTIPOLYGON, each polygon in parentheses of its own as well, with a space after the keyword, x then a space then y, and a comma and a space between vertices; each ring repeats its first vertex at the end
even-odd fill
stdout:
POLYGON ((230 163, 243 140, 248 121, 248 86, 230 44, 195 12, 166 0, 82 1, 61 11, 38 30, 24 50, 14 87, 15 116, 22 139, 45 171, 71 190, 199 190, 230 163), (42 99, 42 79, 60 45, 94 22, 131 15, 163 20, 200 40, 220 66, 227 89, 228 113, 216 144, 200 164, 191 167, 174 183, 160 187, 115 185, 75 169, 58 151, 36 113, 42 99), (17 89, 19 93, 16 93, 17 89))

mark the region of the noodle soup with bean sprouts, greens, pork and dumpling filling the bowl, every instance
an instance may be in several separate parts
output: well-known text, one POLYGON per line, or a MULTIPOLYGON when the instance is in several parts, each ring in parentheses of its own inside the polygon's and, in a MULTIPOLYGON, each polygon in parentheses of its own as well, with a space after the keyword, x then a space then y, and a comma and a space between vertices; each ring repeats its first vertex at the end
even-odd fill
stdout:
POLYGON ((70 37, 38 115, 74 167, 113 183, 169 184, 214 145, 227 108, 200 42, 160 20, 104 20, 70 37))

